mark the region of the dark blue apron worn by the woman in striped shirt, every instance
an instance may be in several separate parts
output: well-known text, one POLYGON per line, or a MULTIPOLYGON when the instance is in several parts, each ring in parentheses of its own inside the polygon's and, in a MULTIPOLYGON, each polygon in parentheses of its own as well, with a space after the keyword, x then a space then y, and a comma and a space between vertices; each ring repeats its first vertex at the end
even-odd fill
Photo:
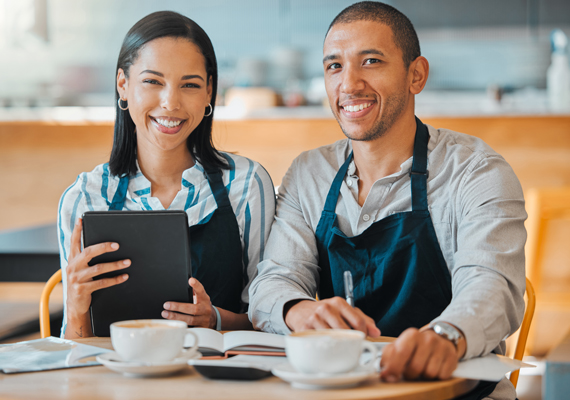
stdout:
MULTIPOLYGON (((218 208, 203 224, 191 226, 192 276, 198 279, 213 305, 242 312, 244 285, 239 227, 220 170, 206 171, 218 208)), ((129 178, 122 177, 109 210, 122 210, 129 178)))

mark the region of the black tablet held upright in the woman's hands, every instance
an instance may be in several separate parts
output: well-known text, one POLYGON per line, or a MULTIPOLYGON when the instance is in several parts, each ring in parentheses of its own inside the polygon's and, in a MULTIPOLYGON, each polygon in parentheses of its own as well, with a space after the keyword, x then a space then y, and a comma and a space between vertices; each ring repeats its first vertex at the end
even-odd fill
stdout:
POLYGON ((192 302, 188 217, 184 211, 88 211, 83 214, 84 247, 117 242, 119 250, 95 257, 90 266, 130 259, 131 266, 98 278, 127 273, 125 282, 93 292, 95 336, 129 319, 161 319, 166 301, 192 302))

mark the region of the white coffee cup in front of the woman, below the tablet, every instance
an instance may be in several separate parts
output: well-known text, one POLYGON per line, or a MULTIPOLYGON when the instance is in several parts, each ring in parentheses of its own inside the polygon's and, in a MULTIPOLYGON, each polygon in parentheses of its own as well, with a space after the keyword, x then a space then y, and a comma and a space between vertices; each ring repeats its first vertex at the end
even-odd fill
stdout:
POLYGON ((192 356, 198 348, 198 337, 188 331, 183 321, 137 319, 111 324, 111 342, 123 361, 158 363, 172 361, 182 355, 192 356), (186 335, 194 336, 194 346, 182 352, 186 335))

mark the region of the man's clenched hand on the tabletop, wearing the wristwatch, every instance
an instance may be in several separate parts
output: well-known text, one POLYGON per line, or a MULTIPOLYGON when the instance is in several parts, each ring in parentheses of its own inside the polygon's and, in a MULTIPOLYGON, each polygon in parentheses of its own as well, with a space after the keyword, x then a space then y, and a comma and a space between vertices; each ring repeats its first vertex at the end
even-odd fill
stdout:
POLYGON ((455 345, 431 329, 406 329, 382 351, 380 377, 387 382, 449 379, 465 353, 465 340, 455 345))

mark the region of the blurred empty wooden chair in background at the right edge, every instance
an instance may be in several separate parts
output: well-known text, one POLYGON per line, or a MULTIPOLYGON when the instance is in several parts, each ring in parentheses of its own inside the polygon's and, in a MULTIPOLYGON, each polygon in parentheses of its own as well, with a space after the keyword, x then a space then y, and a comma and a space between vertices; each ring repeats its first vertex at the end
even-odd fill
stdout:
POLYGON ((570 187, 534 188, 525 198, 526 275, 538 296, 540 321, 529 334, 527 352, 542 356, 570 327, 570 187))

